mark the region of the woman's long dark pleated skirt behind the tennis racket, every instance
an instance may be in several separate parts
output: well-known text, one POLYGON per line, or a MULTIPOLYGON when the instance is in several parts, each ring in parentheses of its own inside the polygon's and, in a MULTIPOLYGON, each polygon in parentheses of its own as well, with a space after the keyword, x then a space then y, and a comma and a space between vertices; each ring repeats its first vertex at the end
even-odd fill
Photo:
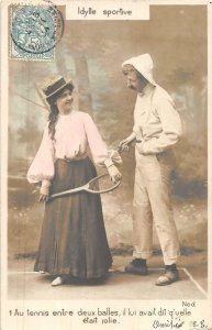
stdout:
MULTIPOLYGON (((89 158, 57 160, 51 194, 82 186, 96 176, 89 158)), ((34 271, 97 278, 111 264, 99 195, 83 191, 46 202, 34 271)))

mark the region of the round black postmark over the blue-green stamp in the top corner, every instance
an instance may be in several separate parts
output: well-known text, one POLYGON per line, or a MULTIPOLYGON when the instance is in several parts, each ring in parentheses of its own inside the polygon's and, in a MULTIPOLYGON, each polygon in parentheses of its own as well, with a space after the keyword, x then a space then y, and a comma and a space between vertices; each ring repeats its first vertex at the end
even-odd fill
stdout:
POLYGON ((64 20, 56 6, 15 6, 11 37, 16 48, 42 54, 52 51, 64 33, 64 20))

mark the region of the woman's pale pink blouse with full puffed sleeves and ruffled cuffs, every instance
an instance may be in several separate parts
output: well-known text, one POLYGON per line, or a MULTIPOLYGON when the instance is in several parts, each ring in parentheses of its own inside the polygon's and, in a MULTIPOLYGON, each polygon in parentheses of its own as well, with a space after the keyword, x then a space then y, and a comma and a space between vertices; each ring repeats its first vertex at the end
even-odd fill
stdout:
POLYGON ((122 163, 118 152, 107 150, 88 113, 72 110, 69 114, 59 114, 55 125, 55 141, 51 139, 46 125, 40 148, 29 168, 27 180, 31 184, 42 182, 42 186, 49 186, 57 158, 82 160, 87 156, 94 164, 107 167, 113 162, 122 163))

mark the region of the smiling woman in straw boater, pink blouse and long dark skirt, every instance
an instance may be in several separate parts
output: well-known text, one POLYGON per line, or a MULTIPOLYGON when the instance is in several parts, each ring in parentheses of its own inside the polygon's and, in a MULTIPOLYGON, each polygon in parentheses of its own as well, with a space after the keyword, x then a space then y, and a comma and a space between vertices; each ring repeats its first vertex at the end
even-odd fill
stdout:
MULTIPOLYGON (((72 110, 72 89, 63 77, 43 89, 51 109, 48 124, 27 173, 30 183, 42 183, 40 200, 46 201, 34 270, 55 275, 53 286, 62 285, 67 275, 100 278, 112 257, 100 196, 79 193, 48 201, 49 194, 96 177, 93 162, 105 166, 114 183, 121 179, 90 116, 72 110)), ((119 154, 114 156, 121 163, 119 154)))

